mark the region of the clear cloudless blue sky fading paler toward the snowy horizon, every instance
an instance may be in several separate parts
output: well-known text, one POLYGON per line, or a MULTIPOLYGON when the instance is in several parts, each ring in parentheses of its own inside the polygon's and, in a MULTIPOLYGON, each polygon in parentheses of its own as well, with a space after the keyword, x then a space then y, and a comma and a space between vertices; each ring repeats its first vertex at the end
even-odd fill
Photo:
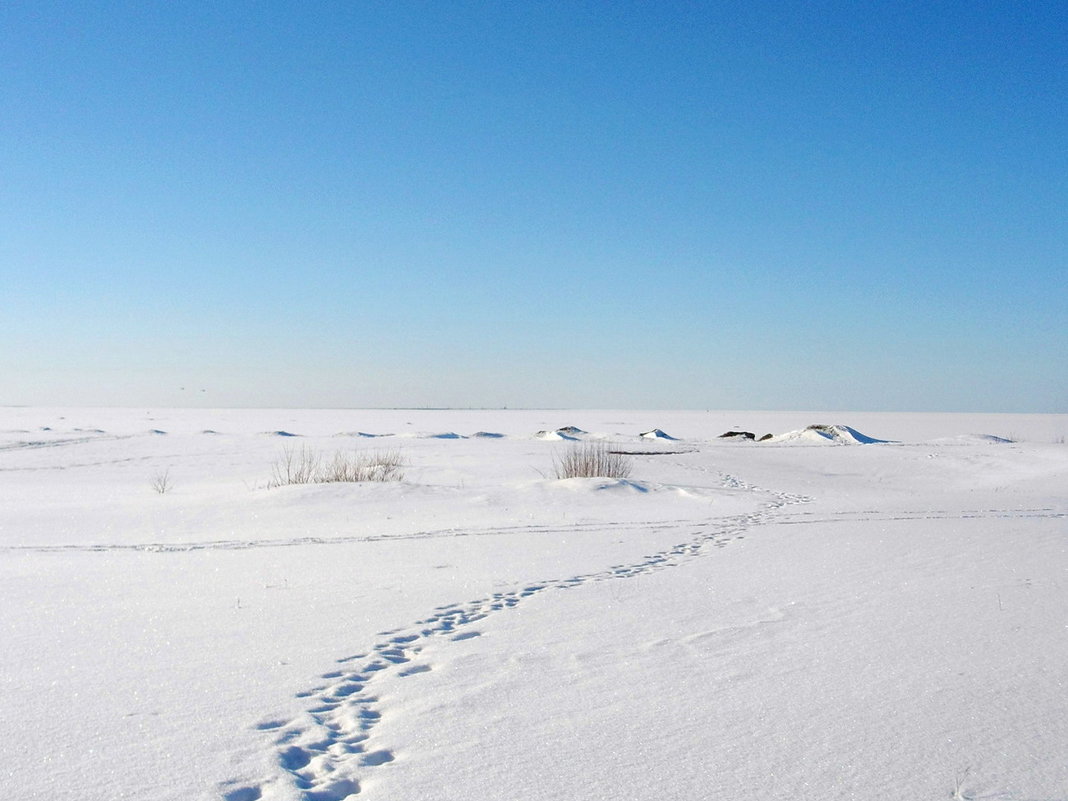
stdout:
POLYGON ((1068 412, 1068 3, 9 0, 0 404, 1068 412))

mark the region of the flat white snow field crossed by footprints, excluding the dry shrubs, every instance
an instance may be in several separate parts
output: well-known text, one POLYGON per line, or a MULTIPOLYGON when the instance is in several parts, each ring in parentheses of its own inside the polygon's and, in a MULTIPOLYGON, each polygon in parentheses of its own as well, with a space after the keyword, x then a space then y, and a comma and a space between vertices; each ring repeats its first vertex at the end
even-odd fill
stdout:
POLYGON ((1066 435, 0 409, 0 797, 1064 801, 1066 435))

